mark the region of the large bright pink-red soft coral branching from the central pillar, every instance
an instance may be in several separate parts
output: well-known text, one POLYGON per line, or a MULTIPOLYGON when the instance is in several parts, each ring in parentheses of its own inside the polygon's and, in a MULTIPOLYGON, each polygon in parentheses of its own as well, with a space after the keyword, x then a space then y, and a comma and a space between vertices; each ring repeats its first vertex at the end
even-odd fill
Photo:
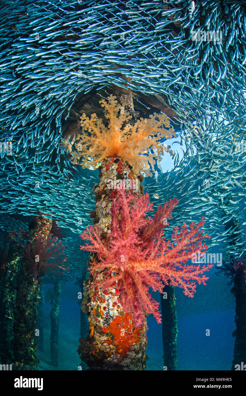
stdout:
POLYGON ((127 195, 119 190, 112 203, 110 241, 100 238, 97 225, 87 227, 81 234, 83 240, 91 243, 81 249, 97 253, 98 262, 91 264, 90 273, 104 271, 103 290, 117 285, 123 310, 133 315, 136 327, 149 313, 161 322, 159 303, 151 299, 149 287, 161 293, 170 282, 193 297, 196 282, 205 284, 208 277, 203 273, 212 267, 186 264, 192 253, 207 248, 202 239, 210 237, 200 230, 203 218, 189 228, 185 223, 180 230, 174 228, 172 241, 166 240, 163 228, 169 225, 167 219, 171 219, 170 213, 177 203, 176 199, 170 200, 159 206, 154 217, 146 217, 145 212, 153 210, 148 194, 136 200, 132 193, 127 195))

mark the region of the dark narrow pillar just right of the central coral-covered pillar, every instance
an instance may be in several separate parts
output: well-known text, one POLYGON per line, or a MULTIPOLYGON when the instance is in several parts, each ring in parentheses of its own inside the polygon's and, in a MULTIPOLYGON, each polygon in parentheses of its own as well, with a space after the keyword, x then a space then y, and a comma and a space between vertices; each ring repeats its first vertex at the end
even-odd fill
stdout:
POLYGON ((165 370, 177 370, 177 312, 174 287, 166 285, 161 294, 162 341, 165 370))

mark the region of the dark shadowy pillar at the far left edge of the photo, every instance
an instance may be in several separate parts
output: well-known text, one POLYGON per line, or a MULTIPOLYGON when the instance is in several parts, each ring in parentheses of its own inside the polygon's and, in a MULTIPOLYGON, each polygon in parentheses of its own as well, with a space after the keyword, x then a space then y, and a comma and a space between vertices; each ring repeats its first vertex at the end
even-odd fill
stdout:
POLYGON ((1 279, 2 295, 0 300, 0 361, 2 364, 13 364, 13 324, 15 307, 16 276, 23 247, 12 239, 4 274, 1 279))

